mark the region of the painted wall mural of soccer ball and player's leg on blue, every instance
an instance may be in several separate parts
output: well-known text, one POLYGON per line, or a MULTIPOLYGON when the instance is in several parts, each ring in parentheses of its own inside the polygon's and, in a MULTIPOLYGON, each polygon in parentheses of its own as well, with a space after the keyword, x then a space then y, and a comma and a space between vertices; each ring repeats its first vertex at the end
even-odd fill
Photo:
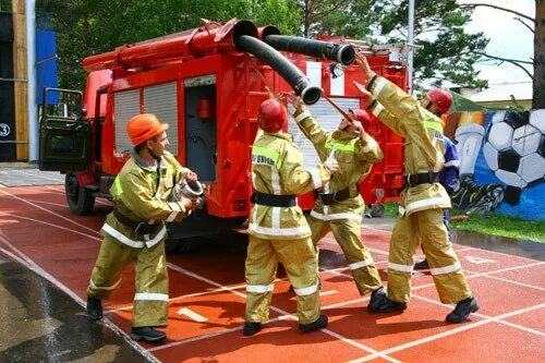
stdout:
POLYGON ((456 112, 445 134, 460 155, 456 208, 545 220, 545 110, 456 112))

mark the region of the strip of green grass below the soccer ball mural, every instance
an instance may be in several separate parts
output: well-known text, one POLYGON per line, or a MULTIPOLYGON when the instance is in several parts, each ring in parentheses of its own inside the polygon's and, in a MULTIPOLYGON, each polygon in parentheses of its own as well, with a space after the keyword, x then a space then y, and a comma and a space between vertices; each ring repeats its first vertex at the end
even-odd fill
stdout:
MULTIPOLYGON (((398 204, 388 203, 386 207, 386 217, 396 217, 398 204)), ((451 216, 464 215, 464 213, 452 209, 451 216)), ((450 226, 458 230, 473 231, 492 235, 501 235, 517 240, 530 240, 545 243, 545 222, 530 221, 520 218, 491 214, 485 217, 479 214, 469 215, 468 220, 451 220, 450 226)))

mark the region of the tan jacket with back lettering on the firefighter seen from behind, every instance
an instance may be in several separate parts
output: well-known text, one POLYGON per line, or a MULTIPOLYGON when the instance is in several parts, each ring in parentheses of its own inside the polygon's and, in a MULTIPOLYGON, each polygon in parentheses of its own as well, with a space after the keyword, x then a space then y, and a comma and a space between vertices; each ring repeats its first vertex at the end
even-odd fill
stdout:
MULTIPOLYGON (((286 133, 257 134, 252 147, 252 181, 258 193, 296 195, 320 187, 330 178, 325 166, 303 169, 303 156, 286 133)), ((249 233, 262 239, 294 240, 311 235, 301 208, 255 204, 249 233)))

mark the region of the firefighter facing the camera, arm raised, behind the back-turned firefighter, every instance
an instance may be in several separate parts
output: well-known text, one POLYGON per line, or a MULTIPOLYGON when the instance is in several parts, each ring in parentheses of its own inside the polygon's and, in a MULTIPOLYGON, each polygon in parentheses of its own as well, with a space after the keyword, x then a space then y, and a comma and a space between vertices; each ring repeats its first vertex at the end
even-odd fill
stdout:
POLYGON ((318 242, 329 232, 339 243, 347 257, 350 273, 361 295, 371 292, 367 308, 375 311, 386 297, 373 257, 361 241, 365 203, 360 194, 359 182, 371 171, 373 164, 383 159, 378 143, 365 132, 363 123, 371 122, 365 110, 350 110, 342 118, 339 130, 324 130, 301 99, 291 96, 295 109, 293 118, 303 134, 314 144, 320 160, 334 157, 339 169, 331 180, 315 193, 316 203, 308 216, 312 241, 318 242))

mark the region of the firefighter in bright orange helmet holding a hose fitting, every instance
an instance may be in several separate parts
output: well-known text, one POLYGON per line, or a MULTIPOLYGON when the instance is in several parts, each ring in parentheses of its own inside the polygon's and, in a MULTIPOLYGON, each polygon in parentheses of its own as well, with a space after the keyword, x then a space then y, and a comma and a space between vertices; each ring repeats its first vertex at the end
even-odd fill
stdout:
POLYGON ((184 196, 167 202, 173 186, 196 181, 197 176, 180 166, 172 154, 166 130, 152 113, 133 117, 126 131, 134 148, 113 181, 110 193, 113 211, 102 226, 105 235, 87 288, 89 319, 102 318, 101 300, 108 299, 121 282, 124 267, 134 262, 135 290, 131 338, 160 341, 167 326, 168 275, 165 257, 165 221, 181 221, 194 208, 184 196))

